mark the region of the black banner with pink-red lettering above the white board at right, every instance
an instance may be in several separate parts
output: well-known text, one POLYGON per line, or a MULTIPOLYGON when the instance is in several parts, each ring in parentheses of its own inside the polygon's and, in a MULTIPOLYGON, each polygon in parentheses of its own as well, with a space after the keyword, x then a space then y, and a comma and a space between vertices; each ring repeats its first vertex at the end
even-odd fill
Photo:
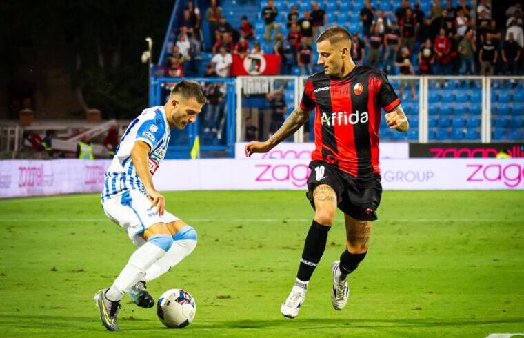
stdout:
POLYGON ((410 157, 523 158, 524 143, 410 143, 410 157))

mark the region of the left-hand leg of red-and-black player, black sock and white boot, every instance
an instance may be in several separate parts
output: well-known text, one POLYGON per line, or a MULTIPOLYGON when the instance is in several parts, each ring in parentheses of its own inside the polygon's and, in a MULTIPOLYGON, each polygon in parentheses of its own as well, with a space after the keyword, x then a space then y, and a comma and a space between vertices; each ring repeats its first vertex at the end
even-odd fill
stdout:
MULTIPOLYGON (((317 181, 323 179, 322 176, 324 175, 317 175, 319 178, 317 181)), ((288 299, 281 306, 282 315, 285 317, 294 318, 299 315, 305 292, 308 290, 308 283, 325 250, 328 232, 336 212, 337 194, 328 184, 320 184, 313 190, 313 201, 315 215, 308 235, 305 237, 296 281, 288 299)))

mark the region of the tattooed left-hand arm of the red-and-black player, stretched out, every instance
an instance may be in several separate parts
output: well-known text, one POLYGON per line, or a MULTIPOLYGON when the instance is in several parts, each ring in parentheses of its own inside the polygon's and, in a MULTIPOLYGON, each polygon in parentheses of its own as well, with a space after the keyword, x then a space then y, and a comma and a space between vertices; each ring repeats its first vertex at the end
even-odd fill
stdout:
POLYGON ((265 142, 250 142, 245 145, 245 156, 250 157, 254 152, 268 152, 283 139, 292 135, 310 118, 311 110, 296 107, 282 126, 265 142))

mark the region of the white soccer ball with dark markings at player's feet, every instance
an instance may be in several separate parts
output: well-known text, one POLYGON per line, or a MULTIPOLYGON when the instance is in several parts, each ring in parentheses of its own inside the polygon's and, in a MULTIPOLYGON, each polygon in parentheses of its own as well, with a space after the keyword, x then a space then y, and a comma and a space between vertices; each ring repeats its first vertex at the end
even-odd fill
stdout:
POLYGON ((194 318, 196 304, 193 297, 184 290, 165 291, 157 302, 157 316, 168 328, 184 328, 194 318))

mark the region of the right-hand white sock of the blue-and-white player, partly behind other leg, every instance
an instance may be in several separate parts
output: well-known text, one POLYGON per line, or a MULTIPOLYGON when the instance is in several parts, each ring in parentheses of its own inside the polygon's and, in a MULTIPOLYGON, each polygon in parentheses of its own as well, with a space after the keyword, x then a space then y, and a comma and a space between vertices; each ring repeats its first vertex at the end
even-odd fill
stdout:
POLYGON ((146 282, 152 281, 165 274, 165 272, 168 272, 173 266, 176 266, 182 259, 188 256, 194 250, 195 246, 196 241, 192 239, 174 241, 168 252, 165 252, 165 255, 163 255, 161 259, 154 262, 154 264, 145 271, 145 279, 143 280, 146 282))

